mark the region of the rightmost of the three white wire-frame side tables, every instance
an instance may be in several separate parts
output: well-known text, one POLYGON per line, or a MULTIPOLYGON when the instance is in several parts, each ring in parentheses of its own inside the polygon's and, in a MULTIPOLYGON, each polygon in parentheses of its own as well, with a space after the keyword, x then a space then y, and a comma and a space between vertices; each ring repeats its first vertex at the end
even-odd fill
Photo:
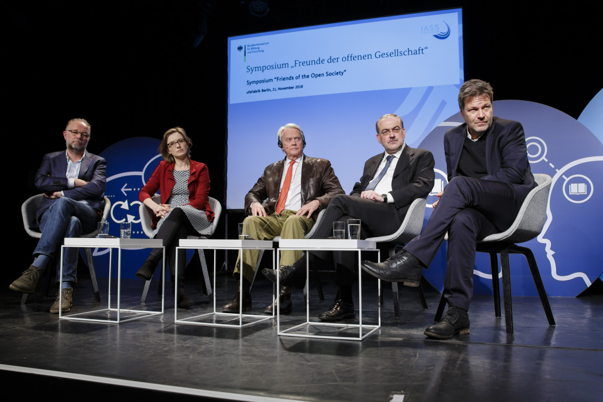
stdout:
MULTIPOLYGON (((306 297, 306 322, 303 324, 295 325, 294 327, 288 328, 286 330, 280 329, 280 311, 277 310, 276 314, 276 327, 277 333, 280 336, 298 336, 301 338, 322 338, 322 339, 344 339, 347 341, 362 341, 363 339, 370 336, 379 328, 381 328, 381 307, 379 306, 378 312, 378 323, 377 325, 367 325, 362 324, 362 269, 361 269, 361 251, 376 251, 377 259, 380 260, 381 252, 377 248, 377 243, 368 240, 339 240, 339 239, 281 239, 279 242, 279 249, 282 250, 301 250, 306 251, 306 288, 308 288, 308 274, 309 274, 309 253, 312 251, 358 251, 358 312, 359 312, 359 323, 358 324, 344 324, 341 322, 323 322, 323 321, 310 321, 310 297, 309 292, 307 292, 308 297, 306 297), (298 328, 307 326, 308 330, 310 327, 343 327, 343 328, 358 328, 359 334, 358 338, 352 336, 330 336, 330 335, 315 335, 315 334, 301 334, 301 333, 290 333, 291 331, 297 330, 298 328), (362 334, 363 328, 368 330, 364 335, 362 334)), ((277 266, 280 263, 280 259, 277 260, 277 266)), ((279 275, 276 275, 276 286, 277 289, 280 289, 280 278, 279 275)), ((377 280, 377 300, 379 300, 381 295, 381 281, 377 280)))

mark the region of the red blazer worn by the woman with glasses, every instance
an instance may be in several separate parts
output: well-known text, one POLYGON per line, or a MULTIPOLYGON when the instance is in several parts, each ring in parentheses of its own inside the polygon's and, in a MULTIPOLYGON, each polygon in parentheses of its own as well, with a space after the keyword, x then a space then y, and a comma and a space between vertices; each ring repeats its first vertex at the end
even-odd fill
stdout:
MULTIPOLYGON (((174 163, 165 162, 162 160, 159 166, 155 169, 147 184, 138 193, 140 202, 144 202, 147 198, 152 198, 159 190, 161 195, 161 203, 168 203, 169 196, 172 194, 172 189, 176 183, 174 180, 174 163)), ((189 203, 196 209, 204 210, 207 214, 207 220, 213 221, 212 207, 209 206, 207 195, 209 194, 209 172, 204 163, 191 160, 191 175, 188 181, 189 203)), ((153 229, 157 226, 159 218, 153 217, 153 229)))

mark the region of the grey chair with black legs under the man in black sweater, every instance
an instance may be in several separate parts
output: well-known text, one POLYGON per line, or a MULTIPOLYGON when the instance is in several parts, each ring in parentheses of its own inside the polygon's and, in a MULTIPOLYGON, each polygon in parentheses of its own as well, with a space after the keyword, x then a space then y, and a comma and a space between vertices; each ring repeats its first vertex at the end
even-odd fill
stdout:
MULTIPOLYGON (((546 296, 545 286, 542 283, 538 265, 534 254, 529 248, 519 247, 516 243, 527 242, 534 239, 545 225, 546 206, 551 189, 551 176, 547 174, 534 174, 538 186, 528 193, 522 207, 517 213, 517 218, 510 228, 502 233, 490 234, 478 242, 477 251, 490 254, 490 268, 492 271, 492 292, 494 295, 494 313, 500 318, 500 291, 498 282, 498 258, 500 253, 500 268, 502 271, 502 293, 505 300, 505 325, 507 334, 513 334, 513 309, 511 308, 511 272, 509 266, 509 254, 523 254, 528 260, 528 266, 534 279, 534 284, 540 296, 540 302, 545 309, 549 325, 555 325, 555 319, 551 311, 549 299, 546 296)), ((440 305, 435 313, 434 321, 440 321, 446 299, 442 295, 440 305)))

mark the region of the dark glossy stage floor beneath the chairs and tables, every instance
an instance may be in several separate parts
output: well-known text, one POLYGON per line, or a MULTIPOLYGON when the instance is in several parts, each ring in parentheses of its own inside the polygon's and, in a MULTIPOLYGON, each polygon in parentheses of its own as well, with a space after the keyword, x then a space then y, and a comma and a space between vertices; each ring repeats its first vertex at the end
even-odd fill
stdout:
MULTIPOLYGON (((219 277, 219 306, 234 293, 235 282, 226 278, 219 277)), ((323 283, 325 301, 318 300, 311 287, 314 316, 334 297, 332 281, 324 278, 323 283)), ((101 291, 106 292, 103 284, 106 280, 101 280, 101 291)), ((156 285, 151 291, 155 298, 156 285)), ((429 310, 423 310, 417 291, 404 287, 402 312, 396 319, 386 285, 382 328, 359 342, 277 336, 276 322, 271 321, 242 329, 174 324, 172 297, 166 298, 164 315, 139 321, 59 321, 48 312, 54 298, 43 298, 36 291, 21 305, 21 295, 9 291, 3 281, 3 383, 22 384, 33 396, 51 392, 74 396, 85 389, 88 395, 133 398, 179 393, 184 400, 603 399, 603 297, 551 298, 555 327, 549 327, 538 298, 515 297, 513 336, 505 333, 504 319, 494 318, 491 297, 475 297, 469 315, 471 333, 435 341, 423 330, 432 324, 439 294, 426 291, 429 310)), ((363 321, 372 324, 377 316, 376 281, 363 277, 363 288, 363 321)), ((189 284, 188 289, 200 287, 189 284)), ((267 281, 257 282, 254 312, 261 313, 268 304, 270 289, 267 281)), ((136 304, 141 291, 141 281, 124 281, 123 305, 136 304)), ((106 300, 104 293, 105 304, 106 300)), ((99 308, 89 280, 80 281, 74 301, 72 312, 99 308)), ((206 302, 199 293, 193 309, 179 310, 178 318, 209 310, 206 302)), ((151 298, 148 306, 157 307, 151 298)), ((294 291, 293 314, 283 321, 305 316, 303 307, 302 292, 294 291)))

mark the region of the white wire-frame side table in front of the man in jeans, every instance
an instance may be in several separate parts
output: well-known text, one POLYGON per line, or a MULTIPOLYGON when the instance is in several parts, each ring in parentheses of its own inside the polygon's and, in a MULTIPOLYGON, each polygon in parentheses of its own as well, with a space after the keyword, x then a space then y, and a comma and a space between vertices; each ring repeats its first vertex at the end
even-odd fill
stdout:
MULTIPOLYGON (((161 311, 149 311, 149 310, 130 310, 121 308, 121 250, 122 249, 140 249, 140 248, 161 248, 163 250, 163 262, 161 268, 161 274, 165 276, 165 247, 163 246, 163 240, 160 239, 119 239, 118 237, 98 239, 93 238, 77 238, 67 237, 65 238, 64 245, 61 247, 61 279, 60 287, 63 286, 63 250, 66 247, 98 247, 98 248, 109 248, 109 301, 107 302, 106 309, 93 310, 90 312, 76 313, 63 315, 61 309, 58 310, 59 319, 71 319, 74 321, 93 321, 93 322, 109 322, 110 324, 119 324, 120 322, 133 321, 134 319, 147 318, 154 315, 160 315, 164 312, 164 297, 165 297, 165 281, 163 281, 162 297, 161 297, 161 311), (112 270, 112 256, 113 249, 118 249, 118 268, 117 268, 117 308, 111 307, 111 270, 112 270), (101 318, 83 318, 82 315, 100 313, 100 312, 117 312, 117 319, 101 319, 101 318), (121 319, 121 313, 138 313, 134 318, 121 319)), ((63 292, 59 292, 59 303, 63 303, 63 292)))

